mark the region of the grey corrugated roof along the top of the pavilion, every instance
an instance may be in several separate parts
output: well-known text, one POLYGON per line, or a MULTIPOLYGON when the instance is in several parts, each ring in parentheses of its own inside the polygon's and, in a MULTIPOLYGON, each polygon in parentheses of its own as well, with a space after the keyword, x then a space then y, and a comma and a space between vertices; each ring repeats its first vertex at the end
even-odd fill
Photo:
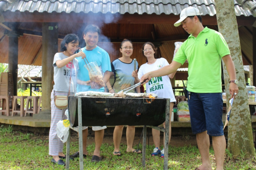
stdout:
MULTIPOLYGON (((256 7, 253 1, 250 0, 248 3, 250 5, 247 4, 247 1, 243 1, 243 4, 238 3, 238 1, 234 0, 237 16, 253 15, 252 11, 254 12, 254 7, 256 7)), ((216 14, 214 0, 19 0, 10 4, 5 11, 179 15, 184 8, 191 5, 198 8, 201 15, 213 16, 216 14)))

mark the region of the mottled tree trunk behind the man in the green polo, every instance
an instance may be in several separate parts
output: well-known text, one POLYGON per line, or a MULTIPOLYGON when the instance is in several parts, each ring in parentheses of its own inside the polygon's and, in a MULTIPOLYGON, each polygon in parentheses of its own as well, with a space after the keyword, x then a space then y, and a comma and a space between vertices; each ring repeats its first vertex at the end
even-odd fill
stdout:
MULTIPOLYGON (((246 84, 233 0, 215 0, 218 30, 224 36, 236 68, 239 92, 234 99, 228 123, 228 150, 234 157, 249 158, 255 155, 251 114, 246 96, 246 84), (245 155, 244 155, 245 154, 245 155)), ((223 62, 227 100, 230 98, 229 75, 223 62)), ((228 103, 228 102, 227 102, 228 103)), ((228 104, 227 104, 228 105, 228 104)))

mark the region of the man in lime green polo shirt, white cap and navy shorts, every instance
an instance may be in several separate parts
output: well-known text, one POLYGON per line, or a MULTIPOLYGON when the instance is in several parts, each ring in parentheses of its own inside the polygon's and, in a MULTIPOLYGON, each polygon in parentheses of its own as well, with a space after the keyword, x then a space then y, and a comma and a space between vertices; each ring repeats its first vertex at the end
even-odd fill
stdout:
POLYGON ((238 93, 234 63, 222 34, 203 27, 198 9, 187 7, 182 10, 180 20, 174 26, 180 25, 190 36, 177 51, 173 62, 157 71, 144 74, 140 81, 171 74, 188 60, 187 95, 191 128, 196 134, 202 158, 202 165, 196 170, 212 169, 209 135, 213 140, 216 170, 223 170, 226 140, 222 122, 221 60, 229 74, 231 97, 238 93))

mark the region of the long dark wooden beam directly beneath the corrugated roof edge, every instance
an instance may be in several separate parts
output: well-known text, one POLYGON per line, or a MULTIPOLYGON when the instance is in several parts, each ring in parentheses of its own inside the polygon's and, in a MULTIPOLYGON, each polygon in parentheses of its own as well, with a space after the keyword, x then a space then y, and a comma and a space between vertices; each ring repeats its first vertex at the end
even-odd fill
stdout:
MULTIPOLYGON (((113 22, 119 24, 174 24, 180 19, 179 15, 166 14, 101 14, 101 13, 39 13, 37 11, 30 13, 25 12, 3 12, 6 22, 67 22, 74 21, 76 23, 100 22, 103 23, 104 18, 108 15, 114 17, 113 22), (53 17, 54 16, 54 17, 53 17), (93 19, 93 20, 92 20, 93 19)), ((216 15, 203 15, 203 25, 217 25, 216 15)), ((252 26, 256 18, 253 16, 237 16, 238 25, 252 26)))

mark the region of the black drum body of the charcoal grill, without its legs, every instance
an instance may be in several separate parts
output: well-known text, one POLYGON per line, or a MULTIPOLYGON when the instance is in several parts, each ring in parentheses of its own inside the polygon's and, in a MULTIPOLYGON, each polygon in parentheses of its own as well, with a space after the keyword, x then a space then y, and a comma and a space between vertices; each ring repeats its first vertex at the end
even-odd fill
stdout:
MULTIPOLYGON (((78 97, 69 97, 71 127, 78 126, 78 97)), ((83 96, 81 102, 82 124, 85 126, 158 126, 165 122, 166 99, 163 98, 83 96)))

